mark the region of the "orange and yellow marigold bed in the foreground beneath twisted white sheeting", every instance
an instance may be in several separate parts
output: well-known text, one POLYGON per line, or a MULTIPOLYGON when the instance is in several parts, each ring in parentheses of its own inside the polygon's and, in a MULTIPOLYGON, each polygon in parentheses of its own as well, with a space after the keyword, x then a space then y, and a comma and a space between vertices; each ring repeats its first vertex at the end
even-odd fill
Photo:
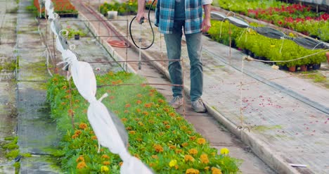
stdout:
MULTIPOLYGON (((97 76, 98 85, 141 84, 143 79, 130 73, 97 76)), ((72 83, 73 84, 73 83, 72 83)), ((101 147, 86 117, 89 103, 69 89, 65 77, 55 75, 48 83, 47 99, 51 117, 63 136, 60 163, 67 173, 119 173, 121 160, 101 147), (72 101, 70 103, 70 101, 72 101), (70 106, 72 105, 72 106, 70 106), (72 126, 75 126, 73 128, 72 126)), ((97 96, 107 92, 103 104, 113 111, 129 134, 129 152, 155 173, 237 173, 238 161, 221 155, 206 142, 164 97, 148 85, 99 87, 97 96)), ((98 98, 97 97, 97 98, 98 98)))

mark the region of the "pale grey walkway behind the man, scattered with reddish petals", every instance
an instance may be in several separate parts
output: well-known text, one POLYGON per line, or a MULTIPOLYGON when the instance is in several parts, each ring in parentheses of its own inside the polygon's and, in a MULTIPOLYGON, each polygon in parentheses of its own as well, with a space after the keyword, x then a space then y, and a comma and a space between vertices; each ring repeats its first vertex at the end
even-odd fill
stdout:
MULTIPOLYGON (((119 19, 126 18, 119 16, 119 19)), ((120 21, 111 23, 118 30, 126 30, 120 21)), ((143 44, 148 45, 151 32, 148 26, 143 27, 143 44)), ((131 30, 139 36, 138 24, 131 30)), ((328 89, 273 70, 264 63, 245 62, 244 73, 241 73, 243 54, 240 51, 232 49, 230 57, 228 46, 207 37, 203 38, 203 48, 202 99, 209 114, 238 135, 278 173, 329 173, 328 89), (240 108, 243 108, 243 118, 240 108), (238 130, 240 125, 250 128, 250 132, 238 130), (307 165, 307 168, 293 168, 289 163, 307 165)), ((155 32, 155 45, 143 51, 143 58, 166 58, 164 50, 163 37, 160 40, 160 34, 155 32)), ((184 82, 188 89, 189 64, 184 42, 182 51, 186 68, 184 82)), ((166 63, 154 64, 166 70, 166 63)))

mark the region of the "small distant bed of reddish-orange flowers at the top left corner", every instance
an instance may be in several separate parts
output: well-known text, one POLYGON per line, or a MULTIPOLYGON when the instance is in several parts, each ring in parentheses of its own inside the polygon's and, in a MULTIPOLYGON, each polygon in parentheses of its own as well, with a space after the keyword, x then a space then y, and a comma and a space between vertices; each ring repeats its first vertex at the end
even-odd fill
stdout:
MULTIPOLYGON (((70 0, 52 0, 55 13, 58 13, 60 17, 77 17, 77 10, 73 6, 70 0)), ((40 9, 39 0, 33 1, 34 6, 37 7, 37 11, 41 11, 42 17, 44 17, 44 8, 40 9)))

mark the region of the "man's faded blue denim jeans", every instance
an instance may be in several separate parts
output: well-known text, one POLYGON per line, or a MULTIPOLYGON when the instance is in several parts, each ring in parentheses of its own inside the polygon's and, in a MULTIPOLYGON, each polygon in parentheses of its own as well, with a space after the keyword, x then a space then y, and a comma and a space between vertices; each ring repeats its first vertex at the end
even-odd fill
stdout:
MULTIPOLYGON (((174 21, 174 30, 172 34, 164 34, 164 40, 167 45, 167 55, 169 58, 169 75, 174 85, 182 85, 182 70, 180 61, 170 61, 170 59, 181 58, 181 37, 184 20, 174 21)), ((186 45, 188 49, 188 58, 190 59, 190 77, 191 77, 191 101, 195 101, 202 96, 203 87, 203 69, 201 60, 202 50, 202 32, 187 34, 186 45)), ((182 95, 182 87, 172 87, 173 96, 182 95)))

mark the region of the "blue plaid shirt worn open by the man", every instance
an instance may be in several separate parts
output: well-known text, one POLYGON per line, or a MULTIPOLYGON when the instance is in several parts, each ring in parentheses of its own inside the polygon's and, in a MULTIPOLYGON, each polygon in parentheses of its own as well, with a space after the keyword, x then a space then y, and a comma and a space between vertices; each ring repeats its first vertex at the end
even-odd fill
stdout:
MULTIPOLYGON (((201 31, 202 5, 212 4, 212 0, 185 0, 185 34, 201 31)), ((175 0, 157 0, 155 26, 161 33, 172 34, 174 26, 175 0)))

